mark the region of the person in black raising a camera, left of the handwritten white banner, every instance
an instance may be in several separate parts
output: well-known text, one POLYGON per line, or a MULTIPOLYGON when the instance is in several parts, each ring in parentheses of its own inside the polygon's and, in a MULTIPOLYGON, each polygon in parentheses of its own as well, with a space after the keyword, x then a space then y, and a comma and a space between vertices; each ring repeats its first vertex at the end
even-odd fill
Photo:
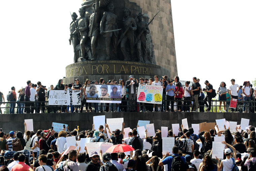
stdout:
POLYGON ((36 108, 36 113, 40 113, 40 107, 42 107, 42 113, 44 113, 45 110, 45 90, 46 86, 42 86, 41 82, 37 82, 36 92, 38 97, 38 106, 36 108))

